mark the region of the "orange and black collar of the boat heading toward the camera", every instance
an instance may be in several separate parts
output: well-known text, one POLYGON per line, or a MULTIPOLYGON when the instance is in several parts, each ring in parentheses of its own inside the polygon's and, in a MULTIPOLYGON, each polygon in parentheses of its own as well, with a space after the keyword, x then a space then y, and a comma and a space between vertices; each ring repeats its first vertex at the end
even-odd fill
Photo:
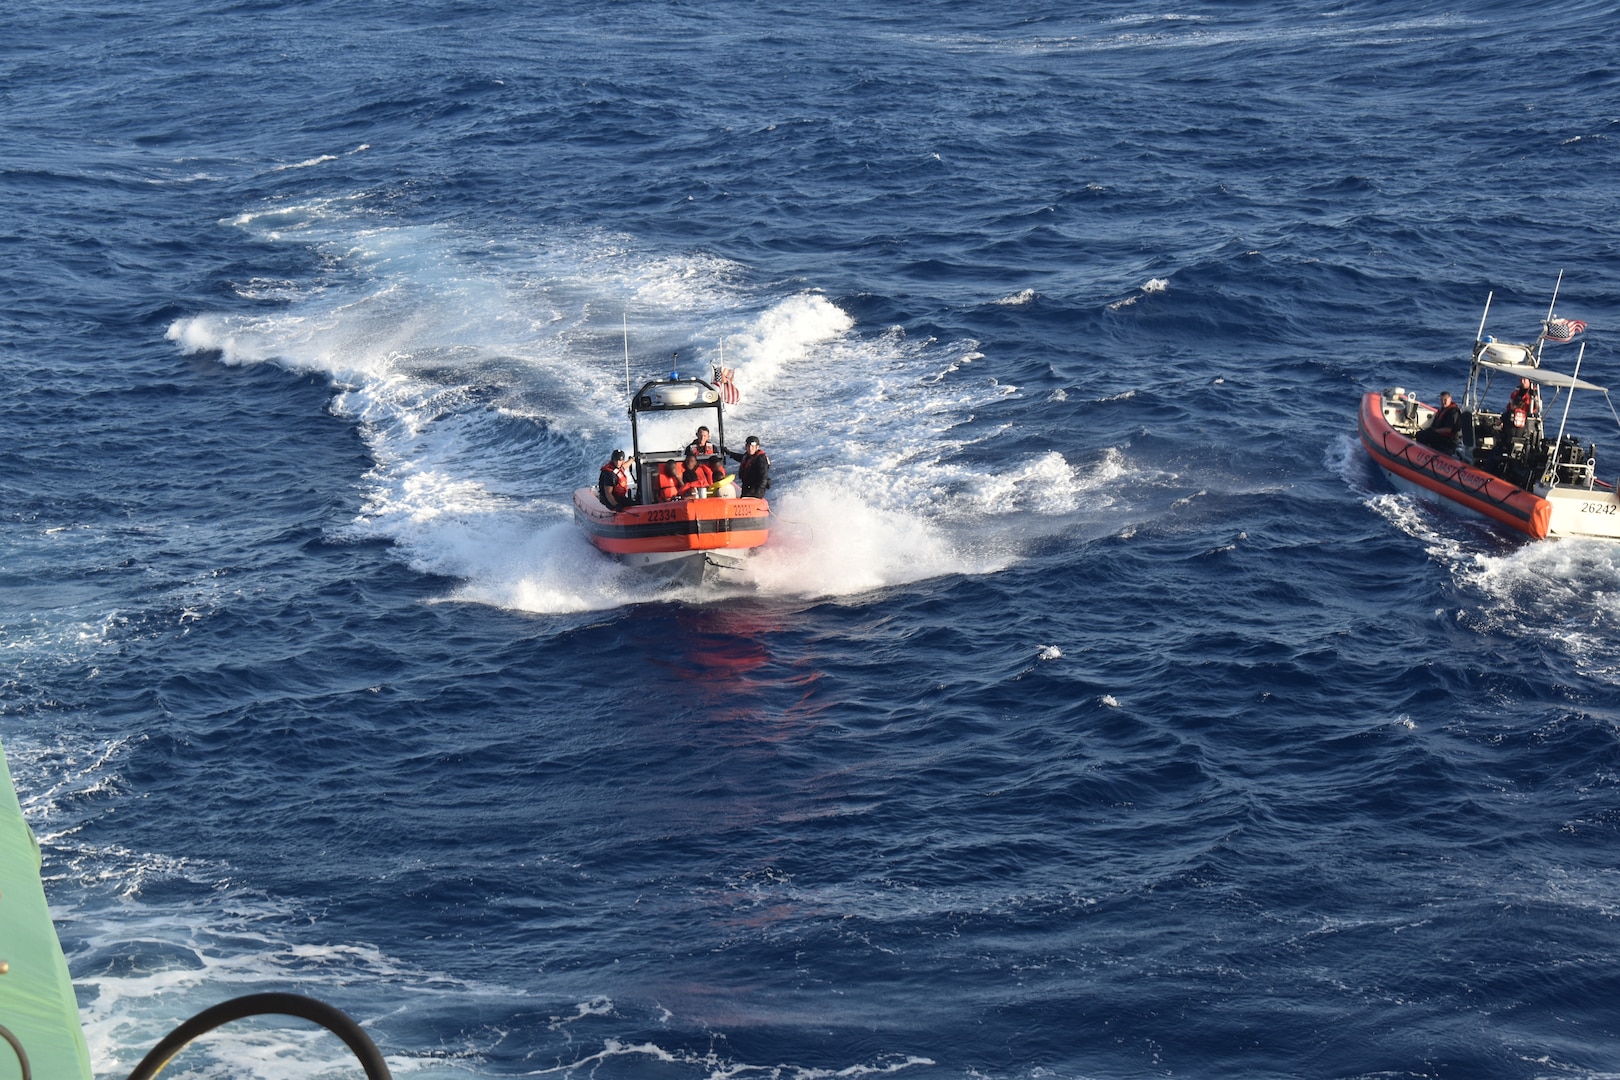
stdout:
POLYGON ((599 551, 619 557, 742 552, 771 538, 765 499, 679 499, 609 510, 595 487, 573 492, 573 520, 599 551))

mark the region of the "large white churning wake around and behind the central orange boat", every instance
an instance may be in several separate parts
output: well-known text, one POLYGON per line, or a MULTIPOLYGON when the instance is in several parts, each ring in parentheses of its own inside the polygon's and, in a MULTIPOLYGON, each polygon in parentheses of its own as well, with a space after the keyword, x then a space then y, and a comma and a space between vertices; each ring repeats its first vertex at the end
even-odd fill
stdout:
POLYGON ((413 568, 460 580, 450 599, 562 614, 671 596, 572 525, 570 491, 625 440, 622 313, 630 381, 735 369, 727 432, 758 434, 774 460, 778 539, 740 575, 763 594, 993 573, 1108 505, 1124 468, 1118 453, 1079 468, 1058 452, 970 465, 964 452, 1001 434, 975 410, 1017 392, 974 372, 974 342, 862 332, 828 296, 750 287, 723 259, 640 253, 622 236, 492 249, 332 204, 232 227, 308 244, 322 280, 284 283, 272 314, 198 314, 168 337, 227 364, 326 374, 330 408, 373 457, 361 510, 335 536, 384 539, 413 568), (476 248, 475 264, 463 253, 476 248))

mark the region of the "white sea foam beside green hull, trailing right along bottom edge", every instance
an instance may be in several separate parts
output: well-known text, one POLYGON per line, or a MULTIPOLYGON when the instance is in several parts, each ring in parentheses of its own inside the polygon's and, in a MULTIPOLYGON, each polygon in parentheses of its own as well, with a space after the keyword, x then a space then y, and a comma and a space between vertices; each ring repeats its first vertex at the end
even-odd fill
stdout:
MULTIPOLYGON (((52 732, 49 742, 26 735, 6 742, 24 814, 44 850, 47 887, 63 876, 75 879, 75 887, 65 891, 73 907, 53 907, 52 916, 68 947, 96 1075, 126 1075, 181 1020, 240 994, 296 988, 345 1009, 373 1035, 379 1018, 416 1014, 424 1001, 460 1007, 478 1002, 491 1015, 546 1007, 523 991, 424 970, 368 942, 327 941, 319 910, 267 897, 237 881, 222 863, 96 847, 84 839, 83 824, 131 798, 120 771, 139 742, 96 740, 71 729, 52 732), (151 884, 162 884, 160 900, 147 899, 151 884)), ((638 1009, 653 1009, 666 1027, 677 1020, 659 1006, 638 1009)), ((823 1075, 786 1064, 750 1065, 716 1051, 666 1049, 650 1041, 629 1046, 595 1030, 577 1030, 617 1015, 606 996, 580 999, 572 1010, 557 1009, 546 1028, 565 1040, 569 1059, 549 1072, 642 1056, 698 1065, 710 1077, 823 1075)), ((690 1017, 684 1022, 690 1023, 690 1017)), ((480 1051, 486 1049, 480 1038, 463 1033, 449 1041, 411 1040, 405 1051, 386 1036, 377 1043, 394 1075, 437 1080, 476 1072, 480 1051)), ((878 1075, 927 1064, 915 1056, 878 1056, 826 1075, 878 1075)), ((271 1022, 225 1025, 188 1048, 168 1072, 321 1080, 355 1075, 356 1064, 330 1033, 303 1022, 271 1022)))

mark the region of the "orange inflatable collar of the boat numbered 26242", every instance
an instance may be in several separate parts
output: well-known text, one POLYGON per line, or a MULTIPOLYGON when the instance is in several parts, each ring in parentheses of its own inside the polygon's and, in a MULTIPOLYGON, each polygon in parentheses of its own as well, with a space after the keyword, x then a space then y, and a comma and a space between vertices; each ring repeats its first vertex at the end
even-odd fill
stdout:
POLYGON ((1395 431, 1383 418, 1383 397, 1379 393, 1367 393, 1361 400, 1361 445, 1387 473, 1500 521, 1531 539, 1547 536, 1552 504, 1534 492, 1515 487, 1500 476, 1430 450, 1395 431))

